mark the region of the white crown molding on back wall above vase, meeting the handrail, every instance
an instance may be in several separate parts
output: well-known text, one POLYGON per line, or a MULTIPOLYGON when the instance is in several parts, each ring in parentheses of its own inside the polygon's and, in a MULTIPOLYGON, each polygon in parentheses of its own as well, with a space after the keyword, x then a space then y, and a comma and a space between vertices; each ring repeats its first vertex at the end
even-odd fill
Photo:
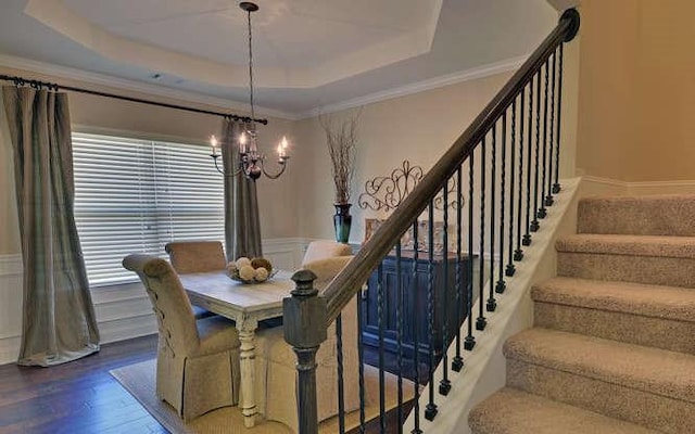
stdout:
POLYGON ((456 85, 458 82, 476 80, 493 76, 508 71, 518 69, 529 55, 521 55, 518 58, 506 59, 500 62, 489 63, 486 65, 478 66, 475 68, 459 71, 457 73, 443 75, 440 77, 430 78, 422 81, 417 81, 410 85, 384 90, 381 92, 371 93, 365 97, 355 98, 352 100, 339 102, 337 104, 330 104, 323 107, 313 108, 298 115, 298 119, 305 119, 309 117, 316 117, 319 114, 328 114, 340 112, 343 110, 358 107, 361 105, 374 104, 377 102, 390 100, 392 98, 405 97, 413 93, 424 92, 426 90, 432 90, 444 86, 456 85))

